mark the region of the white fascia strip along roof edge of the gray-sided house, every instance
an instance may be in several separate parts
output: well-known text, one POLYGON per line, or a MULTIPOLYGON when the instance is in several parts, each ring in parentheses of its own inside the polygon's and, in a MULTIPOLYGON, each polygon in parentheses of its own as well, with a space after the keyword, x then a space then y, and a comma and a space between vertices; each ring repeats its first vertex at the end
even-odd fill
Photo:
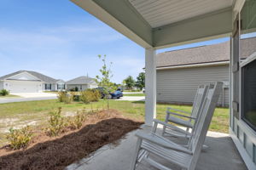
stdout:
POLYGON ((230 64, 230 61, 221 61, 221 62, 214 62, 214 63, 201 63, 201 64, 195 64, 195 65, 164 66, 164 67, 157 67, 156 70, 191 68, 191 67, 202 67, 202 66, 215 66, 215 65, 229 65, 229 64, 230 64))

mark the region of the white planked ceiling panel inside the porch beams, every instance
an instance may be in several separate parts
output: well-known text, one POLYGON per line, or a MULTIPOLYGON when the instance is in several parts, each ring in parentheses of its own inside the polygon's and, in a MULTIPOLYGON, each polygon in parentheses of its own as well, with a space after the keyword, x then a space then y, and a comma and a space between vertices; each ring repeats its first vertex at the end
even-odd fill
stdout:
POLYGON ((233 0, 129 0, 153 28, 229 8, 233 0))

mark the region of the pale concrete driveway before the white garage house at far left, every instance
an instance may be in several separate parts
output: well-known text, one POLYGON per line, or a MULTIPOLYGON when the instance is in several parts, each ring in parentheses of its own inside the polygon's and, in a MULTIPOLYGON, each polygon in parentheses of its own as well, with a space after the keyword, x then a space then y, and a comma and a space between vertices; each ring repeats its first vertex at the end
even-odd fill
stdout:
POLYGON ((14 94, 20 96, 20 98, 0 98, 0 104, 3 103, 13 103, 21 101, 34 101, 34 100, 44 100, 44 99, 57 99, 57 94, 50 93, 20 93, 14 94))

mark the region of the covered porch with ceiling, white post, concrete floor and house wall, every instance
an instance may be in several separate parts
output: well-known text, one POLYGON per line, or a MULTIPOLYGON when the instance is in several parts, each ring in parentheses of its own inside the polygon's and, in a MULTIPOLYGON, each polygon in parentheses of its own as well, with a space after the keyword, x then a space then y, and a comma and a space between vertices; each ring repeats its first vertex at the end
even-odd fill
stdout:
MULTIPOLYGON (((239 109, 241 108, 239 105, 241 102, 240 14, 245 0, 72 0, 72 2, 145 48, 144 130, 152 126, 156 117, 156 50, 230 37, 230 134, 235 144, 230 136, 208 133, 207 144, 210 149, 206 152, 202 151, 197 168, 256 169, 256 133, 251 127, 244 125, 239 116, 241 115, 239 109)), ((250 4, 252 2, 249 0, 250 4)), ((252 8, 256 6, 255 2, 251 5, 252 8)), ((254 18, 250 20, 253 22, 254 18)), ((87 160, 86 169, 128 169, 129 167, 126 166, 131 159, 131 148, 136 144, 133 134, 130 133, 127 139, 113 150, 103 151, 102 156, 96 154, 91 160, 87 160)))

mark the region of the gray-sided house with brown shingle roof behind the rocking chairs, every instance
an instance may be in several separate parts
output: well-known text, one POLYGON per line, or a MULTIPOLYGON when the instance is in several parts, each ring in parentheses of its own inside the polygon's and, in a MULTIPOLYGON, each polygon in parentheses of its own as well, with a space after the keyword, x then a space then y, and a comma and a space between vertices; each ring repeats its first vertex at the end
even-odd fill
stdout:
MULTIPOLYGON (((241 40, 246 53, 256 48, 256 38, 241 40), (250 39, 250 46, 248 44, 250 39)), ((247 54, 241 56, 247 57, 247 54)), ((218 105, 229 106, 230 41, 157 54, 157 101, 192 104, 199 84, 224 82, 218 105)))

